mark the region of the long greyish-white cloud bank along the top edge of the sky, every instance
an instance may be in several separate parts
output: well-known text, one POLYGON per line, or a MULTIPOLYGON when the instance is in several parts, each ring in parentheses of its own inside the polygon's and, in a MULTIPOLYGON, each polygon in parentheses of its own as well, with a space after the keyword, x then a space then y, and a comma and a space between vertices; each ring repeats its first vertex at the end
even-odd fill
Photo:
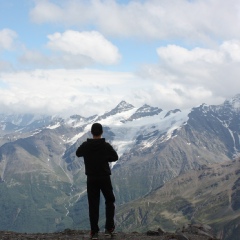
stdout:
POLYGON ((36 1, 30 16, 37 23, 91 25, 104 35, 212 41, 240 37, 238 0, 36 1))

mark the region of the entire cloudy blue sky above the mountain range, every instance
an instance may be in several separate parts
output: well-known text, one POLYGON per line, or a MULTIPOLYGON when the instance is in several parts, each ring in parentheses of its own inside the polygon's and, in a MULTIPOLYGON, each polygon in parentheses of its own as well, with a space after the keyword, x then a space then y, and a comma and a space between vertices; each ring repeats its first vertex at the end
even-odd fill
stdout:
POLYGON ((163 109, 240 93, 239 0, 0 0, 0 109, 163 109))

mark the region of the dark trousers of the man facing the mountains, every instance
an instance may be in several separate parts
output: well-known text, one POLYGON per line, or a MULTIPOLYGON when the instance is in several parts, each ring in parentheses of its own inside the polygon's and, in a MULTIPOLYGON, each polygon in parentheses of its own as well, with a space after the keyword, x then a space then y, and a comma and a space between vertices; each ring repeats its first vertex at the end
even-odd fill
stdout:
POLYGON ((88 176, 87 177, 87 194, 89 205, 89 218, 91 231, 98 232, 99 220, 99 204, 100 191, 105 198, 106 207, 106 223, 105 229, 114 228, 114 214, 115 214, 115 196, 113 194, 113 187, 110 176, 88 176))

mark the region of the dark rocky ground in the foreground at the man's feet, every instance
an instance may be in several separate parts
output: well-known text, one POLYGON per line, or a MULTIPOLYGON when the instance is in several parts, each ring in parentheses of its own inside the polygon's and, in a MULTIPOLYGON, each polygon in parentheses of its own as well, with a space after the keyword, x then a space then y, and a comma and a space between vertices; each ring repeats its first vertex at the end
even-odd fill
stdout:
MULTIPOLYGON (((15 233, 8 231, 0 232, 1 240, 60 240, 60 239, 71 239, 81 240, 89 239, 89 231, 82 230, 71 230, 66 229, 63 232, 58 233, 15 233)), ((182 229, 178 229, 175 233, 164 232, 160 228, 156 231, 147 231, 146 233, 121 233, 118 232, 116 236, 109 237, 105 236, 104 233, 99 233, 99 239, 116 239, 116 240, 218 240, 211 232, 211 228, 207 225, 186 225, 182 229)))

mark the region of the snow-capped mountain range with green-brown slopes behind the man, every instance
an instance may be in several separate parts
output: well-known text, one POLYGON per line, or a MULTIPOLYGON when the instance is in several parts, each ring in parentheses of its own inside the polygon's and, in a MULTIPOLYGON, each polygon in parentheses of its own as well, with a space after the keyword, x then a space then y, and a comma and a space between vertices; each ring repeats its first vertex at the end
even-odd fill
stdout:
POLYGON ((186 110, 122 101, 90 117, 2 113, 0 230, 89 228, 84 164, 75 151, 100 122, 120 156, 112 165, 119 230, 203 222, 225 240, 238 239, 239 120, 240 94, 186 110))

